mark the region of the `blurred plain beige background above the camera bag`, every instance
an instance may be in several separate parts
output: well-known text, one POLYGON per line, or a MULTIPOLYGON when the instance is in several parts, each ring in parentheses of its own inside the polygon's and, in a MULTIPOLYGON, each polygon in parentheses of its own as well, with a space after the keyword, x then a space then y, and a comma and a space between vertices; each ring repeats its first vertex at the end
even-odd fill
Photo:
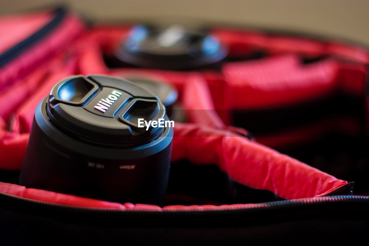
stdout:
POLYGON ((1 0, 0 14, 58 3, 100 21, 190 18, 313 33, 369 45, 369 0, 1 0))

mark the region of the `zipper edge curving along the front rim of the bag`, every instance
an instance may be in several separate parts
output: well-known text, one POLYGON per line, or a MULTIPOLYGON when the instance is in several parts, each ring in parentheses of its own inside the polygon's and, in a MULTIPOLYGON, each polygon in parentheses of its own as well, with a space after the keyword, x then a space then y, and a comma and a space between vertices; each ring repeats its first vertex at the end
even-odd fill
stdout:
MULTIPOLYGON (((82 209, 86 211, 155 211, 159 212, 157 209, 151 208, 101 208, 101 207, 87 207, 87 206, 73 206, 73 205, 64 205, 64 204, 55 204, 52 202, 44 202, 38 201, 31 198, 18 197, 16 195, 7 194, 4 192, 0 192, 1 195, 6 197, 14 198, 20 201, 27 201, 33 204, 42 204, 48 206, 54 206, 58 208, 66 208, 66 209, 82 209)), ((339 201, 352 201, 352 200, 362 200, 369 202, 368 196, 361 195, 337 195, 337 196, 329 196, 329 197, 312 197, 312 198, 300 198, 293 200, 284 200, 284 201, 276 201, 276 202, 264 202, 258 204, 239 204, 239 205, 221 205, 221 206, 201 206, 199 207, 185 207, 185 208, 163 208, 162 211, 219 211, 219 210, 235 210, 235 209, 255 209, 255 208, 270 208, 275 206, 283 206, 290 204, 314 204, 318 202, 339 202, 339 201), (199 209, 200 208, 200 209, 199 209)))

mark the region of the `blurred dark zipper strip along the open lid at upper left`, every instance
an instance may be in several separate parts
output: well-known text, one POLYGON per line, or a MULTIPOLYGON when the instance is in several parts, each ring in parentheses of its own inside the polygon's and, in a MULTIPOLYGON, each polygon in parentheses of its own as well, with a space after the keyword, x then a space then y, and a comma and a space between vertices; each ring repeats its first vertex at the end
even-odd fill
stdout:
POLYGON ((30 48, 32 45, 37 43, 46 35, 51 33, 64 20, 66 13, 67 13, 66 8, 64 7, 57 8, 55 10, 55 17, 49 23, 44 25, 44 27, 36 31, 30 37, 26 38, 25 40, 19 42, 18 44, 9 48, 7 51, 0 54, 0 68, 1 66, 4 66, 8 62, 15 59, 18 55, 20 55, 22 52, 30 48))

